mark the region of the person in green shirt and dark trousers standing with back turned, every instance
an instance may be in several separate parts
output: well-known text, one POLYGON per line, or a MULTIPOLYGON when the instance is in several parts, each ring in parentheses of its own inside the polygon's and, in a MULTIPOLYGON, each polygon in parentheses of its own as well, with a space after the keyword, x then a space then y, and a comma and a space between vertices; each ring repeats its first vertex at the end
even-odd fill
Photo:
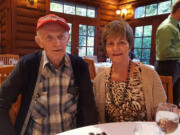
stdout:
POLYGON ((156 32, 156 65, 160 75, 173 77, 174 103, 180 101, 180 0, 172 6, 171 14, 156 32))

